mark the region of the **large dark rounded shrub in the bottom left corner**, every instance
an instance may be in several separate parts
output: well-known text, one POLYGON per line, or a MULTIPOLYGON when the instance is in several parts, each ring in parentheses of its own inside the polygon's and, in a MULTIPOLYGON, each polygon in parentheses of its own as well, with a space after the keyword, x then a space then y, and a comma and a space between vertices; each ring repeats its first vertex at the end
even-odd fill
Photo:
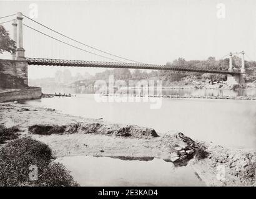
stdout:
POLYGON ((77 185, 59 164, 51 164, 51 149, 33 139, 17 139, 0 149, 0 186, 77 185), (29 167, 37 166, 38 180, 29 179, 29 167))

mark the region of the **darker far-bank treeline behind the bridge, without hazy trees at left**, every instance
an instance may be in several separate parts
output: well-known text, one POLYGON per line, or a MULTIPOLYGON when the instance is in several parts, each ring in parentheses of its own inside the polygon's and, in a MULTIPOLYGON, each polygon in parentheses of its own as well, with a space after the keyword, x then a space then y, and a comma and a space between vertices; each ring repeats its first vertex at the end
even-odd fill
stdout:
MULTIPOLYGON (((234 56, 232 58, 232 64, 234 68, 239 69, 241 66, 241 59, 234 56)), ((187 67, 196 68, 211 68, 214 70, 228 70, 229 68, 229 58, 222 60, 215 60, 214 57, 209 57, 207 60, 190 60, 186 61, 184 58, 178 58, 173 62, 167 62, 167 65, 182 65, 187 67)), ((256 62, 245 61, 246 68, 246 80, 247 82, 252 82, 256 80, 256 62)), ((105 70, 101 73, 96 73, 96 75, 87 78, 84 81, 77 81, 78 85, 94 85, 96 80, 106 80, 108 81, 109 75, 114 75, 115 80, 125 80, 127 83, 129 80, 139 81, 139 80, 162 80, 163 86, 169 86, 175 81, 225 81, 227 80, 227 75, 221 74, 211 74, 211 73, 191 73, 191 72, 175 72, 166 70, 129 70, 126 68, 115 68, 113 70, 105 70)))

